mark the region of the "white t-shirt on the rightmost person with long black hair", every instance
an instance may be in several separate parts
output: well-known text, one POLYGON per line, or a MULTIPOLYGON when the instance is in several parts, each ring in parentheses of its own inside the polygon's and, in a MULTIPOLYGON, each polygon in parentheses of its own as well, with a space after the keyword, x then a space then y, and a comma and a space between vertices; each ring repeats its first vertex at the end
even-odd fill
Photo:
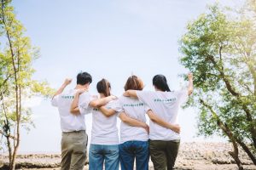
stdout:
MULTIPOLYGON (((140 101, 148 105, 149 108, 161 119, 170 123, 177 123, 177 111, 181 104, 188 99, 188 91, 180 90, 176 92, 147 92, 137 91, 140 101)), ((161 127, 155 122, 149 121, 149 139, 151 140, 175 140, 180 139, 178 133, 171 129, 161 127)))

